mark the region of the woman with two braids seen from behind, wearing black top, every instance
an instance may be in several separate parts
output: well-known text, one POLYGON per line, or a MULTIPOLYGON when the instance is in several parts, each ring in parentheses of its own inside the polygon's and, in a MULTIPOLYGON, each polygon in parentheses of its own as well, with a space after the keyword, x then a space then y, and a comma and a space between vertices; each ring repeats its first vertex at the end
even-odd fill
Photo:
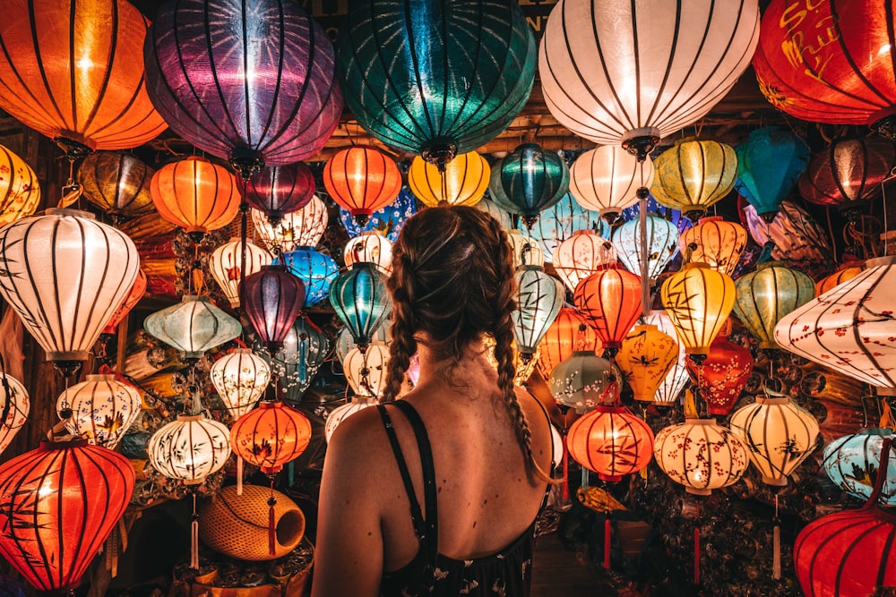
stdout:
POLYGON ((312 594, 527 595, 551 437, 542 407, 513 386, 506 235, 479 209, 424 209, 401 230, 389 290, 383 402, 414 353, 418 384, 333 435, 312 594))

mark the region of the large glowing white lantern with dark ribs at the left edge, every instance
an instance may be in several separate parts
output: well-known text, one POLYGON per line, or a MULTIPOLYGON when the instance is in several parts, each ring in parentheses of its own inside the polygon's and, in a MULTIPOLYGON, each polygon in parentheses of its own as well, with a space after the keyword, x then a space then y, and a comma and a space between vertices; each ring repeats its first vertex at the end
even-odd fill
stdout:
POLYGON ((126 235, 74 209, 47 209, 0 228, 0 294, 47 351, 84 361, 134 286, 140 259, 126 235))

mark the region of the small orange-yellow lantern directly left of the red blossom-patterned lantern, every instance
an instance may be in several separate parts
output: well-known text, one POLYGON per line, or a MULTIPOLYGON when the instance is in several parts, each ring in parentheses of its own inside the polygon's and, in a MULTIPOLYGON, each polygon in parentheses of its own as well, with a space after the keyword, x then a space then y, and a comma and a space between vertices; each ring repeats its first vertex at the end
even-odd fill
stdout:
POLYGON ((678 360, 678 343, 656 326, 635 326, 625 337, 616 355, 616 364, 625 373, 634 398, 652 402, 659 384, 678 360))

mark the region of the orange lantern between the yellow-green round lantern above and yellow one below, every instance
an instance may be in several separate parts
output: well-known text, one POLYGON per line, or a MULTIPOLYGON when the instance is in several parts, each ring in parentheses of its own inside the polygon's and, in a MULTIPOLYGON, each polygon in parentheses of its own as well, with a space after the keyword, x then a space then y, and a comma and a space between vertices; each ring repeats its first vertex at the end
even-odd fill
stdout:
POLYGON ((678 241, 685 260, 705 263, 730 276, 746 248, 746 230, 721 216, 701 217, 697 226, 685 230, 678 241))

